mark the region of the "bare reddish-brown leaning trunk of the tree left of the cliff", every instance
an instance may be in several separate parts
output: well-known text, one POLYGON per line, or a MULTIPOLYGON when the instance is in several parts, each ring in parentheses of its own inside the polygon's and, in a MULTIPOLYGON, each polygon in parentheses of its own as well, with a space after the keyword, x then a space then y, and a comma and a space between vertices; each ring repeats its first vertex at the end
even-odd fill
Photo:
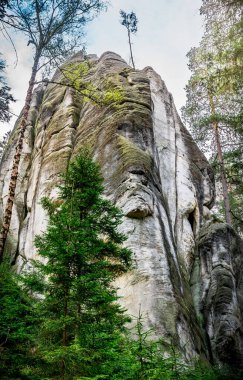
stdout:
POLYGON ((35 84, 35 78, 36 78, 40 55, 41 55, 41 51, 37 50, 35 54, 35 58, 34 58, 34 64, 32 67, 29 87, 28 87, 26 98, 25 98, 25 105, 24 105, 23 116, 22 116, 21 124, 20 124, 18 141, 15 148, 15 155, 13 159, 13 166, 12 166, 12 172, 11 172, 9 189, 8 189, 8 199, 6 202, 6 207, 5 207, 5 211, 3 215, 3 226, 0 233, 0 263, 3 260, 4 247, 5 247, 6 239, 7 239, 9 228, 10 228, 11 218, 12 218, 12 209, 13 209, 15 190, 16 190, 17 179, 18 179, 19 162, 20 162, 21 153, 23 149, 24 133, 27 126, 27 118, 29 114, 30 103, 32 99, 32 93, 33 93, 33 88, 35 84))

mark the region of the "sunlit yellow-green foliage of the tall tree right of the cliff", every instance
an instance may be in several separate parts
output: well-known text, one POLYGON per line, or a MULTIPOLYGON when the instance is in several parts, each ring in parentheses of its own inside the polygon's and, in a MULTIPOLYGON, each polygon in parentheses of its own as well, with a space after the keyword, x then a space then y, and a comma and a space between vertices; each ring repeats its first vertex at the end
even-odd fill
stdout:
MULTIPOLYGON (((182 109, 194 139, 215 168, 218 203, 222 198, 222 164, 215 157, 217 129, 228 183, 233 225, 242 232, 242 21, 240 2, 204 0, 205 33, 188 53, 191 78, 182 109), (221 174, 220 174, 221 168, 221 174)), ((224 207, 218 209, 221 215, 224 207)))

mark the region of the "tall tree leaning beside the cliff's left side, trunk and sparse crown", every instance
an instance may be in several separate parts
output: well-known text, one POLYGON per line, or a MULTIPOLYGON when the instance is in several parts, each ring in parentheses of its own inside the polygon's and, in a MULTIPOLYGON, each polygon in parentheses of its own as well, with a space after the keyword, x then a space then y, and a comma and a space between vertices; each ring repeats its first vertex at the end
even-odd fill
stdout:
MULTIPOLYGON (((4 247, 10 229, 12 204, 18 179, 18 168, 23 149, 23 138, 28 124, 28 115, 36 84, 36 75, 44 69, 49 71, 60 65, 80 46, 83 27, 95 17, 106 3, 102 0, 11 0, 10 11, 3 14, 1 20, 27 37, 27 45, 34 49, 34 60, 29 80, 23 112, 20 118, 17 140, 18 156, 14 156, 12 165, 12 181, 3 215, 4 223, 0 232, 0 261, 3 259, 4 247), (14 174, 15 173, 15 174, 14 174), (10 194, 11 193, 11 194, 10 194)), ((5 9, 5 8, 4 8, 5 9)), ((8 35, 8 33, 7 33, 8 35)), ((43 72, 44 74, 44 72, 43 72)), ((46 73, 47 74, 47 73, 46 73)))

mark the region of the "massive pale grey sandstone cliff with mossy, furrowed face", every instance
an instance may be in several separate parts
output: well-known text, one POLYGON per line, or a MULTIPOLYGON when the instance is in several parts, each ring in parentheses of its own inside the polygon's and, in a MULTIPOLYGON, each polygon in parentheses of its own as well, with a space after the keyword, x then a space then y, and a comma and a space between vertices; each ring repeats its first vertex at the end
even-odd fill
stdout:
MULTIPOLYGON (((36 257, 34 237, 47 225, 40 199, 56 196, 59 174, 88 145, 106 196, 124 213, 121 228, 134 254, 134 269, 116 283, 121 302, 133 316, 140 310, 146 327, 187 358, 229 362, 231 350, 239 365, 242 253, 227 226, 202 235, 214 201, 212 170, 152 68, 135 71, 110 52, 88 59, 86 80, 100 90, 110 83, 122 102, 98 106, 55 84, 36 89, 8 239, 12 261, 21 270, 36 257)), ((3 205, 17 130, 1 164, 3 205)))

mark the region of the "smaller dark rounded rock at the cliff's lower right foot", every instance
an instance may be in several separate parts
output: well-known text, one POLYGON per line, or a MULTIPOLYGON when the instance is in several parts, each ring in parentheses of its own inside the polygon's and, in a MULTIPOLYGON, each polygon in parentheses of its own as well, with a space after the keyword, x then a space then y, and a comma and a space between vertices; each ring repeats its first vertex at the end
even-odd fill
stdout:
POLYGON ((226 224, 200 231, 191 278, 199 318, 216 362, 243 363, 242 241, 226 224))

